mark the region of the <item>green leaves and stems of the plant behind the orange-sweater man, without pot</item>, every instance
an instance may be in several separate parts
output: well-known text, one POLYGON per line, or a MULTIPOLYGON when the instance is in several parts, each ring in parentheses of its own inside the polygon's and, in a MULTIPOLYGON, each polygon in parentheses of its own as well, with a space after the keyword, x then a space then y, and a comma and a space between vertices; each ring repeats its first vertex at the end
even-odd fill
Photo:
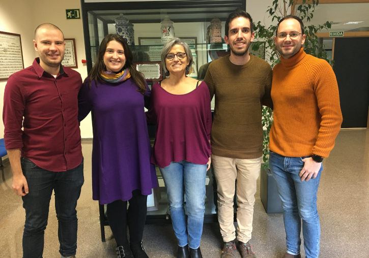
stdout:
MULTIPOLYGON (((273 0, 271 6, 268 6, 269 17, 273 24, 266 26, 261 21, 253 24, 255 31, 255 38, 257 39, 251 44, 252 52, 256 52, 262 46, 265 46, 265 59, 269 61, 272 67, 279 62, 279 53, 274 44, 274 36, 277 29, 277 23, 280 19, 291 12, 294 8, 294 0, 273 0)), ((309 1, 310 3, 310 1, 309 1)), ((322 29, 329 29, 332 22, 327 21, 324 24, 313 25, 310 24, 314 17, 315 8, 318 6, 319 0, 312 0, 311 4, 306 4, 306 0, 302 1, 295 9, 295 15, 300 17, 305 25, 305 44, 304 51, 307 54, 314 55, 318 58, 327 60, 331 65, 327 52, 323 48, 322 42, 319 41, 317 33, 322 29), (306 25, 308 24, 308 25, 306 25)), ((269 132, 273 123, 273 111, 268 107, 263 107, 262 123, 264 126, 264 141, 263 141, 263 169, 269 169, 269 132)))

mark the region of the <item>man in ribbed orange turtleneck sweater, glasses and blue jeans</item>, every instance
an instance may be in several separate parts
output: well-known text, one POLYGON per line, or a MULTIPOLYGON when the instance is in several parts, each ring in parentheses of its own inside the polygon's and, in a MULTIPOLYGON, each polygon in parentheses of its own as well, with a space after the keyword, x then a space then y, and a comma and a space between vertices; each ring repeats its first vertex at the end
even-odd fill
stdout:
POLYGON ((285 222, 284 257, 301 257, 301 221, 306 257, 318 257, 317 191, 322 161, 332 150, 342 123, 337 81, 327 61, 303 51, 300 18, 281 19, 274 41, 281 57, 273 69, 269 148, 285 222))

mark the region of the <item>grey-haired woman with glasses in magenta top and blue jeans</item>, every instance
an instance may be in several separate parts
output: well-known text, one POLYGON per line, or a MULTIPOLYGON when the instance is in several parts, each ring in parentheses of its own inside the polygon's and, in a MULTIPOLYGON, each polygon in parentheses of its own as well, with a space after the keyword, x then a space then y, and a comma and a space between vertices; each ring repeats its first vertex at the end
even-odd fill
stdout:
POLYGON ((165 182, 177 257, 202 257, 205 180, 211 162, 210 94, 205 82, 187 77, 192 55, 180 39, 165 44, 161 63, 169 77, 152 86, 148 119, 156 123, 157 132, 151 162, 165 182))

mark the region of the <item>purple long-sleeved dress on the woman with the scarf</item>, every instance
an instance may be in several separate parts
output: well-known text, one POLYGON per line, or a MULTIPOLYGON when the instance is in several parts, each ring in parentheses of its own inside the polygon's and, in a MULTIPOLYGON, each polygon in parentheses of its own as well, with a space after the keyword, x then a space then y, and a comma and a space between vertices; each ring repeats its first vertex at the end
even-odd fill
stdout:
POLYGON ((92 190, 100 204, 127 201, 135 189, 150 195, 158 187, 144 111, 150 89, 143 95, 137 88, 132 78, 93 81, 91 88, 86 80, 78 95, 78 120, 94 114, 92 190))

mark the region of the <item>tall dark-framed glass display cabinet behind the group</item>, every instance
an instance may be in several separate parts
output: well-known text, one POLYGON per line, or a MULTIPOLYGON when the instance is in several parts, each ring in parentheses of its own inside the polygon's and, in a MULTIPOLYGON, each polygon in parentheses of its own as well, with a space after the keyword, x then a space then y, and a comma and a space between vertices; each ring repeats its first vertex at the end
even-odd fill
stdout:
MULTIPOLYGON (((225 52, 227 49, 224 42, 210 44, 211 36, 209 34, 215 34, 215 30, 212 30, 210 26, 212 20, 218 21, 221 26, 218 33, 224 36, 226 18, 237 8, 246 10, 246 0, 141 0, 135 2, 81 0, 81 8, 88 71, 94 65, 101 40, 107 34, 124 34, 125 31, 128 31, 125 30, 125 27, 116 27, 116 24, 124 23, 130 24, 131 31, 129 35, 131 38, 127 36, 127 41, 130 43, 137 68, 147 70, 150 67, 160 66, 160 52, 163 46, 161 42, 162 26, 165 21, 169 20, 169 22, 173 22, 171 23, 171 29, 173 32, 174 27, 175 37, 187 42, 191 48, 194 66, 190 76, 197 77, 200 76, 200 68, 204 64, 220 56, 220 51, 225 52)), ((143 73, 145 74, 145 71, 143 73)), ((145 76, 149 85, 165 77, 162 73, 150 76, 145 74, 145 76)), ((154 127, 149 126, 149 131, 152 138, 154 127)), ((160 187, 155 192, 155 207, 148 211, 147 222, 169 222, 166 192, 158 170, 157 175, 160 187)), ((206 182, 205 222, 217 221, 216 187, 211 169, 206 182)), ((103 209, 101 213, 104 213, 103 209)))

